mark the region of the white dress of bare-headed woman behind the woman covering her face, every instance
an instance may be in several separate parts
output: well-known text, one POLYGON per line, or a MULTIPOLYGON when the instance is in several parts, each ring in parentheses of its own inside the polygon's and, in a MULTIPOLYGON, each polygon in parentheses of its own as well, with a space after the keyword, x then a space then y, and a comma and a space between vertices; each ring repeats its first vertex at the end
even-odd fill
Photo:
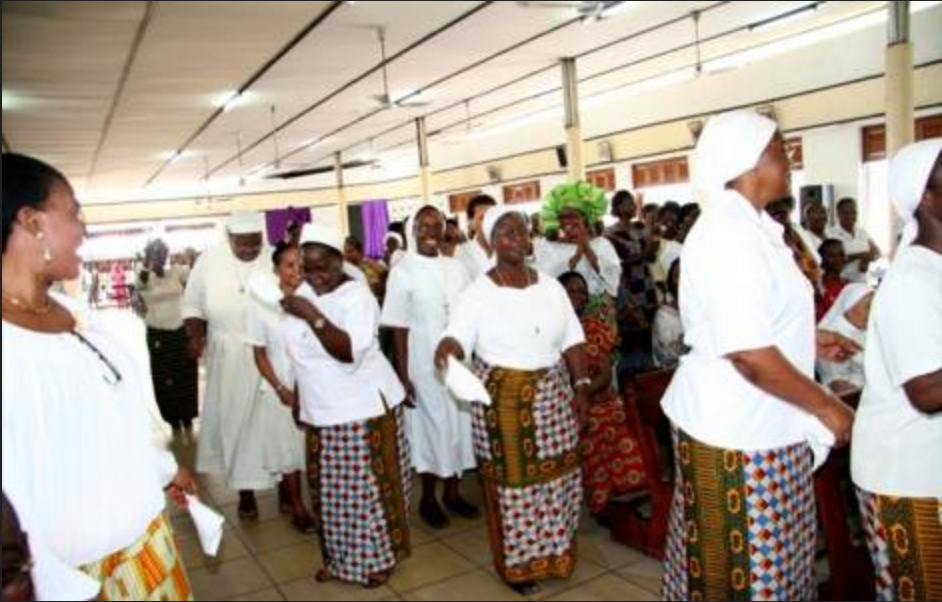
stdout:
MULTIPOLYGON (((264 347, 278 381, 294 389, 296 379, 285 342, 288 316, 253 302, 247 316, 250 343, 264 347)), ((270 489, 284 475, 305 467, 304 431, 294 421, 291 408, 259 374, 252 409, 236 443, 236 464, 245 475, 247 489, 270 489)))

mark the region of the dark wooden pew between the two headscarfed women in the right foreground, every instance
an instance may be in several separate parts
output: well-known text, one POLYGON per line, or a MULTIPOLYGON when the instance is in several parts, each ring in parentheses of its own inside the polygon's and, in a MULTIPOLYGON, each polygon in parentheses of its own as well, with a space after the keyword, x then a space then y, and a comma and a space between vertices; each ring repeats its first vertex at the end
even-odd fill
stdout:
MULTIPOLYGON (((856 408, 860 393, 845 396, 844 401, 856 408)), ((845 495, 845 485, 853 487, 848 447, 832 450, 814 476, 815 501, 831 573, 821 587, 820 599, 873 600, 873 565, 866 543, 854 545, 851 537, 847 517, 859 514, 859 510, 854 493, 845 495)))

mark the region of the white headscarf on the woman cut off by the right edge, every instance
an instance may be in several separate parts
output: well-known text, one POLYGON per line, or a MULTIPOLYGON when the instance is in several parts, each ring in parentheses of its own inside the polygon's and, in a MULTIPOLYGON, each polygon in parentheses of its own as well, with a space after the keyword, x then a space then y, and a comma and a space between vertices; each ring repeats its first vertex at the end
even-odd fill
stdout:
POLYGON ((942 138, 923 140, 903 147, 890 164, 890 191, 896 213, 903 222, 900 250, 908 247, 919 233, 916 209, 922 202, 932 168, 942 153, 942 138))

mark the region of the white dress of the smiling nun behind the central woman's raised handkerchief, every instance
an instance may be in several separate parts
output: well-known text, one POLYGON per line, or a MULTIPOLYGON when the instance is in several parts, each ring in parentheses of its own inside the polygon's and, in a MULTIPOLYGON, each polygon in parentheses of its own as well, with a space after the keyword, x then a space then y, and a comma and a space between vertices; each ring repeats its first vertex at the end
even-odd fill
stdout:
POLYGON ((468 284, 457 259, 416 253, 407 254, 387 284, 382 325, 409 330, 409 378, 418 407, 406 412, 406 425, 420 474, 450 478, 475 466, 470 407, 451 396, 434 362, 449 310, 468 284))

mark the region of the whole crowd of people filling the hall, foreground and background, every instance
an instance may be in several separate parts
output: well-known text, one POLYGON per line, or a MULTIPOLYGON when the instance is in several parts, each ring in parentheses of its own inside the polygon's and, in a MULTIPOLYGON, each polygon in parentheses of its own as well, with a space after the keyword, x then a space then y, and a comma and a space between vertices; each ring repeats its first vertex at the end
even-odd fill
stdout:
POLYGON ((420 519, 483 520, 497 574, 532 595, 572 576, 583 508, 607 524, 660 472, 620 386, 649 370, 674 371, 665 599, 816 599, 812 475, 850 441, 881 599, 937 597, 939 555, 920 546, 942 543, 940 151, 892 163, 906 230, 879 287, 856 203, 831 229, 815 203, 793 224, 782 136, 747 111, 699 138, 702 212, 585 182, 537 220, 481 195, 467 233, 422 205, 383 258, 317 223, 270 248, 262 216, 234 214, 192 270, 148 245, 149 366, 52 290, 79 274, 68 180, 4 154, 4 599, 191 599, 164 508, 196 481, 153 444, 151 388, 240 520, 277 488, 321 543, 318 581, 388 582, 411 553, 415 474, 420 519), (459 363, 489 399, 455 396, 459 363))

